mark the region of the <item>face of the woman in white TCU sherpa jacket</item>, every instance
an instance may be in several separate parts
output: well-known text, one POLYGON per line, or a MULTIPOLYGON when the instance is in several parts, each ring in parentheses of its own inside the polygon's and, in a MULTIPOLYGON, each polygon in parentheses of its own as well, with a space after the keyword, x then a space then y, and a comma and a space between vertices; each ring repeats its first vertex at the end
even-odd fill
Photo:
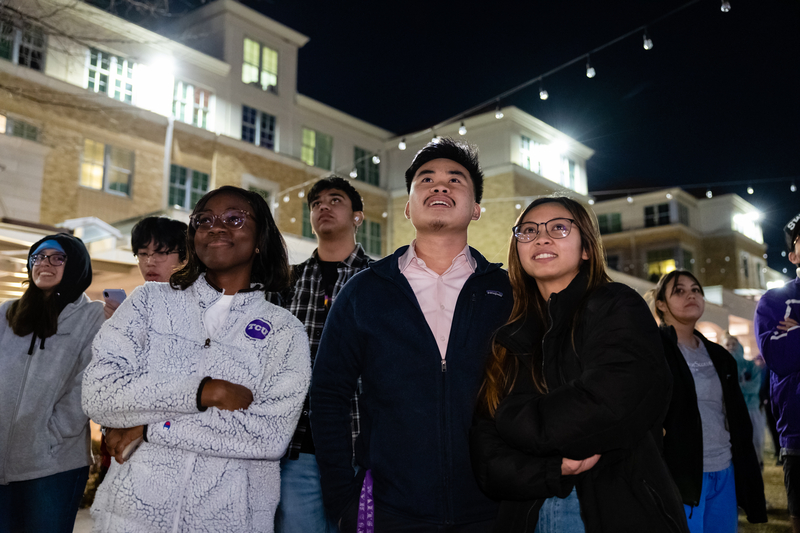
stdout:
POLYGON ((206 266, 208 276, 246 271, 249 279, 257 234, 256 221, 252 216, 253 208, 237 194, 220 193, 211 197, 200 213, 219 216, 230 209, 250 213, 246 215, 244 225, 240 228, 229 228, 217 218, 214 227, 199 227, 194 235, 195 251, 206 266))

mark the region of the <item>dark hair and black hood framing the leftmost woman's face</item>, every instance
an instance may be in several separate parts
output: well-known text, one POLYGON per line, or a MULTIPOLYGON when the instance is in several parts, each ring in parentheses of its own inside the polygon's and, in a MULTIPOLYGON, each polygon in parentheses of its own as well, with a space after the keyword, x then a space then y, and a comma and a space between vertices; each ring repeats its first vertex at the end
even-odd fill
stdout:
POLYGON ((92 284, 92 260, 83 241, 67 233, 48 235, 39 239, 28 250, 28 288, 6 312, 6 320, 15 335, 24 337, 34 333, 45 339, 58 331, 58 315, 70 303, 81 297, 92 284), (67 260, 61 282, 46 294, 33 282, 31 255, 45 241, 58 242, 67 260))

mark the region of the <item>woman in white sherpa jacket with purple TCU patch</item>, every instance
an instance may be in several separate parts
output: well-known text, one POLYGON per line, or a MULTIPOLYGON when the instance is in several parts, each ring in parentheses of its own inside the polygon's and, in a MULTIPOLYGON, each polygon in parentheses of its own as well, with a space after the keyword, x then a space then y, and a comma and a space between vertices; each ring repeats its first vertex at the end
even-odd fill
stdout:
POLYGON ((260 195, 222 187, 197 203, 187 256, 95 339, 83 408, 127 428, 108 441, 95 531, 273 530, 311 375, 302 324, 265 299, 288 282, 286 247, 260 195))

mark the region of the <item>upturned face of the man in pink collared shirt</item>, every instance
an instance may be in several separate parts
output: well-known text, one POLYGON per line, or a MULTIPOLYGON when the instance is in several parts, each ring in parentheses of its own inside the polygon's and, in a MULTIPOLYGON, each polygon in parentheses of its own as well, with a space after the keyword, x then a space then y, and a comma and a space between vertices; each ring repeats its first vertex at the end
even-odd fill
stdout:
POLYGON ((450 159, 422 165, 411 182, 406 218, 420 232, 466 232, 470 221, 481 217, 469 172, 450 159))

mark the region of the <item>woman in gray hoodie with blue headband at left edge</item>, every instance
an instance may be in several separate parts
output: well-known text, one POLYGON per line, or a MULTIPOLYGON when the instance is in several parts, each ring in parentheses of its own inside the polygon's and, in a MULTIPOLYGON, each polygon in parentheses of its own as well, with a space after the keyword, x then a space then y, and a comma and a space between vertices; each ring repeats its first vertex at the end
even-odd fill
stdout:
POLYGON ((70 532, 92 463, 83 370, 103 304, 80 239, 48 235, 28 253, 28 287, 0 305, 0 531, 70 532))

